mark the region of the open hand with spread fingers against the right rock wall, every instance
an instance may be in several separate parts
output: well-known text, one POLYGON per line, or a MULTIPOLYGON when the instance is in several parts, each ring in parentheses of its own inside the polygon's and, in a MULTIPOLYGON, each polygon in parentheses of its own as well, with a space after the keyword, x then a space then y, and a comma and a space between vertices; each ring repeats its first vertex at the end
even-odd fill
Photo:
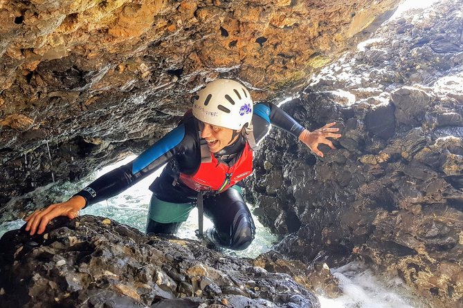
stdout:
POLYGON ((318 146, 320 144, 326 144, 330 148, 336 149, 332 141, 327 138, 337 139, 341 137, 341 134, 336 133, 339 131, 339 128, 332 127, 334 125, 336 125, 336 122, 326 124, 322 128, 318 128, 313 132, 307 131, 307 129, 305 129, 299 135, 299 139, 300 141, 304 142, 306 146, 309 146, 312 152, 320 157, 323 157, 323 152, 318 150, 318 146))

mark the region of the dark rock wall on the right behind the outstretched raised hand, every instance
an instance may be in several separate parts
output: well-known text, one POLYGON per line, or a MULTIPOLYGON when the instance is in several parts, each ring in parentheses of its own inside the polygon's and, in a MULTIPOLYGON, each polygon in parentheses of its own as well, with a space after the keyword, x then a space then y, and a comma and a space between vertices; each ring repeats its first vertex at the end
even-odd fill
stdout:
POLYGON ((291 233, 279 251, 329 266, 361 258, 433 307, 462 307, 462 7, 390 21, 283 106, 307 127, 338 122, 343 137, 316 158, 274 130, 257 153, 246 195, 291 233))

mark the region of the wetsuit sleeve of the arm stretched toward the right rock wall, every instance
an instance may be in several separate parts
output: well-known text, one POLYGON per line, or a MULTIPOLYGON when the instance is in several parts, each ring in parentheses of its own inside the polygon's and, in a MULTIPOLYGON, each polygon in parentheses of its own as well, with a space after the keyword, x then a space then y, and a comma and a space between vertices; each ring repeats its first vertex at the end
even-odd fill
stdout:
POLYGON ((269 126, 273 125, 281 128, 294 137, 299 137, 304 131, 304 126, 300 125, 290 115, 285 113, 281 108, 271 103, 259 103, 254 105, 253 126, 254 137, 256 142, 262 139, 269 126))

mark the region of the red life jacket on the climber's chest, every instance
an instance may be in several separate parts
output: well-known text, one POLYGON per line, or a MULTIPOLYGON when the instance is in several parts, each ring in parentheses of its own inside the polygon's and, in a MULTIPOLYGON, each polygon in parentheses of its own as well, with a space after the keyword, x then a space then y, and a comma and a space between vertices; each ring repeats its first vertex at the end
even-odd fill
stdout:
POLYGON ((237 162, 229 167, 210 153, 211 162, 201 162, 194 175, 180 173, 179 182, 182 182, 195 191, 226 191, 237 182, 253 172, 253 150, 246 142, 243 152, 237 162))

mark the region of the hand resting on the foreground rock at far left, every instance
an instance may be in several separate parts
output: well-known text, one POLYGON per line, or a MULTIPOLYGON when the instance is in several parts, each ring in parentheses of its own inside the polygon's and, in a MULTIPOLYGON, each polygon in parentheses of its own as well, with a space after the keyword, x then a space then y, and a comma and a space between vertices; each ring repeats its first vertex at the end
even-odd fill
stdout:
POLYGON ((39 209, 25 219, 27 222, 26 231, 30 231, 30 235, 34 235, 36 232, 37 234, 42 234, 50 220, 58 216, 66 216, 71 219, 76 218, 84 206, 85 199, 80 195, 75 195, 66 202, 51 204, 46 209, 39 209))

